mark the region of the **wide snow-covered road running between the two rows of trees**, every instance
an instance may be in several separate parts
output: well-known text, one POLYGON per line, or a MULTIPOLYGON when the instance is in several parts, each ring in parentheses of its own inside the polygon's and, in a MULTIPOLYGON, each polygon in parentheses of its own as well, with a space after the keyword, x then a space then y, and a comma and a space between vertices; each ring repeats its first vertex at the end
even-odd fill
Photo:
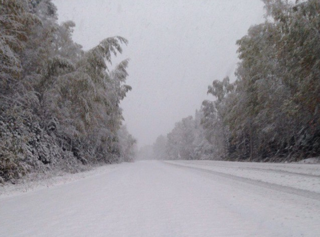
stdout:
POLYGON ((0 236, 314 237, 319 187, 320 165, 120 164, 1 196, 0 236))

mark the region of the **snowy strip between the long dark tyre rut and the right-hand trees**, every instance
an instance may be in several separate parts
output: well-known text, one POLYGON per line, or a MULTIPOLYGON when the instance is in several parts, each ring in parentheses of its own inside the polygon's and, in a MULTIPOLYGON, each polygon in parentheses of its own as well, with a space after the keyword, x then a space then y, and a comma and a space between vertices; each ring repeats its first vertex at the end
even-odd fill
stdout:
POLYGON ((215 172, 216 175, 228 174, 320 194, 320 165, 224 161, 168 161, 167 163, 203 169, 215 172))

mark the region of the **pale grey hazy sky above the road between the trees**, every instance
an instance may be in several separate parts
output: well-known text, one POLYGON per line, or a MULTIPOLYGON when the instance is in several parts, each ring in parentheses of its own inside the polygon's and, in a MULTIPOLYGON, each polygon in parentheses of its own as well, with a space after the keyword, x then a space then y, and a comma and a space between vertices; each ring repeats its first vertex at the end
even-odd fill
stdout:
POLYGON ((76 23, 73 39, 85 50, 110 36, 129 40, 118 62, 130 58, 121 103, 124 124, 138 145, 152 144, 193 115, 212 81, 236 68, 236 40, 263 22, 259 0, 54 0, 59 22, 76 23))

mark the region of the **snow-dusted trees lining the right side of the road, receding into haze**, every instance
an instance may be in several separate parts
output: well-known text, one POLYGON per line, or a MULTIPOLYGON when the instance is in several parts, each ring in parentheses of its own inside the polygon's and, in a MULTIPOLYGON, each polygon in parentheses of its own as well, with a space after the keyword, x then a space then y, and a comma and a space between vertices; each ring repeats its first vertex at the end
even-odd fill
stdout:
POLYGON ((215 80, 207 93, 216 100, 159 137, 155 157, 290 162, 320 155, 320 2, 263 3, 265 21, 236 42, 236 81, 215 80))

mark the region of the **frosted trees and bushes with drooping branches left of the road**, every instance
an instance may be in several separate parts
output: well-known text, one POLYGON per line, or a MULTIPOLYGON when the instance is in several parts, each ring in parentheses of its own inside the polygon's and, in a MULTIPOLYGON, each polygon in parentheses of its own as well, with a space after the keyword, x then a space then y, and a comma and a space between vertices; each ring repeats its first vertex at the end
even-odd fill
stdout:
POLYGON ((119 106, 129 60, 112 68, 123 37, 84 51, 74 22, 57 23, 51 0, 0 5, 0 183, 30 172, 77 172, 131 161, 135 139, 119 106))

